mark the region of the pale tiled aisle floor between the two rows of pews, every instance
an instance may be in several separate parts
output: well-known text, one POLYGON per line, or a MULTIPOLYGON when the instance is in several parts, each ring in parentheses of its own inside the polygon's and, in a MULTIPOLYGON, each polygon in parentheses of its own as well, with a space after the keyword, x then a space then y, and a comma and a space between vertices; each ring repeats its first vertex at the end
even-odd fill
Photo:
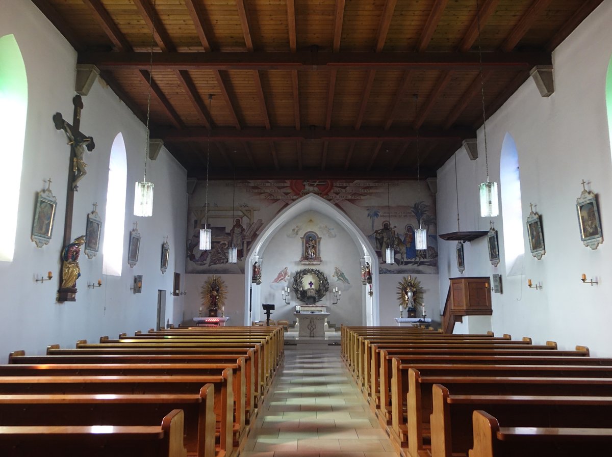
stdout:
MULTIPOLYGON (((298 346, 299 348, 299 346, 298 346)), ((398 457, 340 348, 288 349, 241 457, 398 457)))

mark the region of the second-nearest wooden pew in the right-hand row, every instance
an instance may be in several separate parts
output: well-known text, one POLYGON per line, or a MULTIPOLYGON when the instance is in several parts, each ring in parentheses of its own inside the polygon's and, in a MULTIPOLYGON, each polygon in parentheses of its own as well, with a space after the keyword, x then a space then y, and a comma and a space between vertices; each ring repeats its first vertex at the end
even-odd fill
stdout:
POLYGON ((434 384, 432 395, 431 457, 467 455, 477 409, 512 426, 612 427, 612 397, 452 395, 441 384, 434 384))

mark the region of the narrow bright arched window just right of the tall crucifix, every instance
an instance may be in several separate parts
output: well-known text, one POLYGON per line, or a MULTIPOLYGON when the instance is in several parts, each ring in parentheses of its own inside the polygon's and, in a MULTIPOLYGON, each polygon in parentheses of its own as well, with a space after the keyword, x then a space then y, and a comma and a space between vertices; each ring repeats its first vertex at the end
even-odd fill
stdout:
POLYGON ((123 235, 125 227, 125 185, 127 184, 127 158, 121 133, 111 148, 108 164, 108 189, 104 219, 103 274, 121 276, 123 235))

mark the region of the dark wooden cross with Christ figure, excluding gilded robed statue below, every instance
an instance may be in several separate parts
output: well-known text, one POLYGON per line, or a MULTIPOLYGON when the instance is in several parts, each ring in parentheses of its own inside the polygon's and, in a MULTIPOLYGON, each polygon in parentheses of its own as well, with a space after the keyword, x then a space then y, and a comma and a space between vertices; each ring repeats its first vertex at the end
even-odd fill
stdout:
MULTIPOLYGON (((64 217, 64 239, 62 248, 65 249, 72 242, 72 214, 74 207, 75 192, 78 189, 77 183, 86 174, 86 164, 83 161, 84 148, 92 151, 95 148, 94 139, 91 136, 86 136, 81 133, 81 109, 83 109, 83 100, 80 95, 75 95, 72 99, 74 105, 72 115, 72 125, 64 120, 60 112, 53 115, 53 123, 57 130, 63 130, 66 137, 69 139, 70 145, 70 161, 68 167, 68 192, 66 195, 66 214, 64 217)), ((63 282, 62 268, 59 274, 60 285, 63 282)), ((76 288, 60 287, 58 290, 58 302, 76 301, 76 288)))

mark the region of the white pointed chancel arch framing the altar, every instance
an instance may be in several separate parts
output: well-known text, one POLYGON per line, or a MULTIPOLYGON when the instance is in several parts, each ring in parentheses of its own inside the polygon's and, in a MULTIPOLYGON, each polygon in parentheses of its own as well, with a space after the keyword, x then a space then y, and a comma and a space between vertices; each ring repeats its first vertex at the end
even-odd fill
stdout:
POLYGON ((355 249, 359 252, 359 256, 365 261, 368 261, 371 265, 372 273, 372 290, 373 295, 370 297, 367 293, 366 286, 361 285, 362 288, 362 311, 365 315, 365 325, 378 326, 379 325, 379 302, 378 302, 378 261, 376 252, 371 247, 368 239, 365 238, 364 234, 359 230, 359 227, 354 224, 351 219, 346 216, 345 213, 338 210, 337 207, 327 200, 316 196, 315 194, 308 194, 295 202, 291 203, 284 210, 280 211, 277 216, 267 225, 266 229, 261 233, 258 241, 252 246, 250 252, 248 252, 245 258, 245 312, 244 312, 244 324, 250 325, 251 321, 262 320, 264 316, 263 310, 261 309, 261 294, 259 287, 252 286, 253 278, 253 262, 261 260, 263 268, 266 268, 265 258, 263 253, 266 252, 270 241, 274 235, 281 230, 287 222, 297 218, 302 213, 307 211, 316 211, 317 213, 324 214, 340 225, 346 233, 351 237, 355 244, 355 249), (375 260, 375 261, 372 261, 375 260), (248 307, 249 304, 253 303, 252 313, 250 315, 248 307))

